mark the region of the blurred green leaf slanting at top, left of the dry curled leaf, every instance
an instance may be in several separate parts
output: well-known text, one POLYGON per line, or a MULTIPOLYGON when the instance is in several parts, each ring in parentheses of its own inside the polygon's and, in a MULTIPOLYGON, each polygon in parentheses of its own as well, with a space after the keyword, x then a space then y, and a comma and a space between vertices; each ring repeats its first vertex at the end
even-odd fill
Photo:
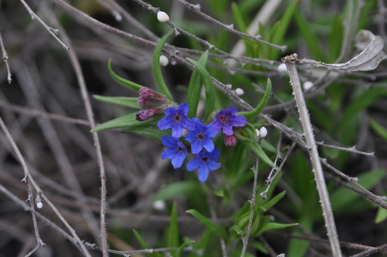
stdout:
POLYGON ((311 53, 314 60, 324 62, 326 58, 322 52, 322 47, 320 44, 319 38, 312 27, 310 27, 310 22, 308 22, 303 16, 302 12, 299 9, 295 10, 294 18, 298 26, 299 31, 301 32, 302 38, 306 41, 308 50, 311 53))

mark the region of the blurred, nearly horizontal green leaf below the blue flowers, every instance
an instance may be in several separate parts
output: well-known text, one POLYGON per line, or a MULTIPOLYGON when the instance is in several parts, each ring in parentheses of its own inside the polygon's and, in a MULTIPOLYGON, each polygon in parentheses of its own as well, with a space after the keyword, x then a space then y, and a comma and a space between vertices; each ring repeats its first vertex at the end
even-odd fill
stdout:
POLYGON ((197 194, 202 194, 202 187, 192 181, 176 182, 166 185, 152 197, 152 202, 156 200, 170 200, 176 197, 193 197, 197 194))

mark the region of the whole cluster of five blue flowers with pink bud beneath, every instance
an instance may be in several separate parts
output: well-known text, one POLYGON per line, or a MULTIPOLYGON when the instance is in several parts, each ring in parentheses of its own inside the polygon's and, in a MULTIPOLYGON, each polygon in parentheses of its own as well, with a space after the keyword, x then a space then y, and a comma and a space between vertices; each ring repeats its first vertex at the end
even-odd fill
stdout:
POLYGON ((220 152, 215 148, 212 139, 222 129, 226 145, 235 146, 236 138, 232 128, 245 126, 246 118, 236 115, 238 110, 232 106, 219 111, 214 122, 204 125, 198 118, 188 118, 188 110, 187 103, 182 103, 178 108, 170 107, 164 111, 166 117, 161 119, 157 125, 161 130, 172 128, 172 137, 165 135, 162 138, 161 141, 167 148, 161 153, 161 158, 171 159, 174 168, 181 167, 188 151, 179 138, 183 135, 183 128, 189 130, 185 140, 191 143, 191 152, 196 156, 188 161, 187 170, 199 170, 199 180, 205 182, 209 172, 221 166, 217 161, 220 152))

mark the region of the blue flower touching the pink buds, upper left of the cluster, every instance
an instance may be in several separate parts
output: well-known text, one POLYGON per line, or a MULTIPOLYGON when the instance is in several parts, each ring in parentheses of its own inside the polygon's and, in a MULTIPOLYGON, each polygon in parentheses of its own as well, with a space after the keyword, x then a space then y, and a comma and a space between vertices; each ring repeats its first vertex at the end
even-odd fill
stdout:
POLYGON ((186 103, 182 103, 176 109, 175 107, 170 107, 165 110, 165 115, 167 117, 162 118, 157 126, 159 129, 164 130, 167 128, 172 128, 173 137, 181 137, 183 135, 183 128, 188 130, 195 129, 195 123, 187 117, 189 107, 186 103))

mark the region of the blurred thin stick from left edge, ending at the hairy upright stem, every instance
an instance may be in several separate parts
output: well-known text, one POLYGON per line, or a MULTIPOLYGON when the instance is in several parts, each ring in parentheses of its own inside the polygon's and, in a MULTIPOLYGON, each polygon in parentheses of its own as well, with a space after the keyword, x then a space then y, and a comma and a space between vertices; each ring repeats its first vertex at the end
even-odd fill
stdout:
POLYGON ((59 120, 61 122, 69 122, 69 123, 74 123, 79 125, 90 126, 90 122, 88 122, 87 120, 65 117, 63 115, 55 114, 55 113, 47 113, 45 111, 39 111, 36 109, 26 108, 24 106, 7 103, 6 101, 3 101, 3 100, 0 100, 0 106, 3 107, 4 109, 15 111, 17 113, 23 113, 33 117, 45 117, 52 120, 59 120))

